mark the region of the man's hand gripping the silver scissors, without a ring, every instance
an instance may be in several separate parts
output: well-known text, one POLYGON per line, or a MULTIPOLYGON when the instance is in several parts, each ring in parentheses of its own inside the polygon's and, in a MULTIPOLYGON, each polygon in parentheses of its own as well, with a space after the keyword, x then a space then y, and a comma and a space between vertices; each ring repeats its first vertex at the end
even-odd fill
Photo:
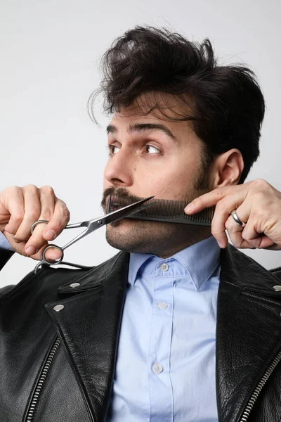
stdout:
MULTIPOLYGON (((13 186, 0 193, 0 231, 20 255, 40 260, 47 241, 53 241, 69 221, 67 206, 55 196, 51 186, 13 186), (38 224, 31 235, 31 226, 39 219, 49 223, 38 224)), ((46 253, 51 260, 60 256, 56 249, 46 253)))

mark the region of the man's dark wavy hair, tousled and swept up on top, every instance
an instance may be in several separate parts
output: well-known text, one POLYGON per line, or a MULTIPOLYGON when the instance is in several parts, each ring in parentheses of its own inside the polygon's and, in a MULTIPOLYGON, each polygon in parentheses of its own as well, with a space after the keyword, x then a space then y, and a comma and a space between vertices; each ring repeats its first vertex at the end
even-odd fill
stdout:
POLYGON ((237 148, 244 159, 240 184, 244 182, 259 157, 265 112, 263 94, 252 70, 242 64, 218 65, 209 39, 200 44, 150 26, 136 26, 115 39, 101 65, 100 89, 89 99, 93 120, 98 94, 103 94, 107 113, 137 101, 144 114, 158 110, 165 120, 190 120, 204 142, 205 168, 216 155, 237 148), (172 117, 161 106, 167 94, 182 104, 172 117))

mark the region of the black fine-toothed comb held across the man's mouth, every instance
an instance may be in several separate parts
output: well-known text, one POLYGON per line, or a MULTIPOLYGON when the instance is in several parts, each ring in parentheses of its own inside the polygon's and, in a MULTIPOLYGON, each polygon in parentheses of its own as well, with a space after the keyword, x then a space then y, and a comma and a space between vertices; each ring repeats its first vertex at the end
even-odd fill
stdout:
MULTIPOLYGON (((144 198, 135 199, 141 200, 144 198)), ((117 195, 110 195, 106 212, 118 210, 131 203, 132 201, 129 198, 119 198, 117 195)), ((154 222, 211 226, 215 207, 205 208, 204 210, 197 212, 197 214, 187 215, 183 210, 188 204, 188 201, 152 198, 143 205, 143 209, 133 212, 126 218, 143 219, 154 222)))

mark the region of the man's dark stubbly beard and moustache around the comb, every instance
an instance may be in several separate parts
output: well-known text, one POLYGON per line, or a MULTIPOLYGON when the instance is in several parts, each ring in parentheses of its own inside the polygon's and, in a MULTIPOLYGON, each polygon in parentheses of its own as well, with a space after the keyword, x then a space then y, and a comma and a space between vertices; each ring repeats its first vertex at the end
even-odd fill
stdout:
MULTIPOLYGON (((209 191, 209 178, 202 169, 198 172, 193 186, 191 186, 181 198, 169 198, 173 200, 193 199, 209 191)), ((139 198, 133 196, 124 188, 110 187, 103 192, 101 205, 106 210, 107 200, 110 195, 116 195, 120 199, 126 199, 128 203, 134 203, 139 198)), ((157 198, 156 198, 157 199, 157 198)), ((162 198, 165 199, 165 198, 162 198)), ((168 199, 168 198, 166 198, 168 199)), ((178 224, 166 222, 153 222, 141 219, 121 219, 115 223, 107 224, 106 240, 113 248, 132 253, 150 253, 159 257, 169 257, 179 250, 187 248, 204 238, 211 236, 211 228, 192 224, 178 224)))

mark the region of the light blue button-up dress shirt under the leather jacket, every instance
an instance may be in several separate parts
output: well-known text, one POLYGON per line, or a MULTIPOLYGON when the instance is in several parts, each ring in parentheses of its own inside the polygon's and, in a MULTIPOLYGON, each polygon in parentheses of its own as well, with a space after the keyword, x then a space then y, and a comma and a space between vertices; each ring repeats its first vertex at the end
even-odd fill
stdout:
POLYGON ((218 422, 219 257, 213 236, 165 260, 130 255, 107 422, 218 422))

